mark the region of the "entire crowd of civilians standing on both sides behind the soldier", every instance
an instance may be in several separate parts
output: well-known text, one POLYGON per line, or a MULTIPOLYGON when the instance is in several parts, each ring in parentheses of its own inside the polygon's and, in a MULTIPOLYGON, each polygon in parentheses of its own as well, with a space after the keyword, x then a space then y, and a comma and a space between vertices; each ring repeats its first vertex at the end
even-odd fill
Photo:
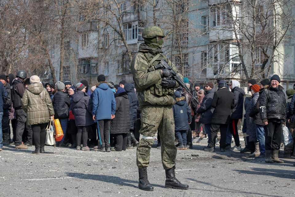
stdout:
MULTIPOLYGON (((111 152, 138 144, 140 109, 132 83, 120 81, 115 85, 105 81, 104 75, 99 75, 98 83, 92 87, 86 80, 76 85, 71 81, 44 83, 36 75, 27 78, 22 70, 16 76, 0 75, 0 81, 0 151, 3 145, 14 144, 16 149, 34 145, 34 154, 44 153, 45 129, 51 117, 59 120, 64 133, 62 140, 56 142, 57 147, 111 152)), ((191 88, 188 78, 183 81, 191 88)), ((181 87, 174 92, 177 149, 193 148, 194 138, 207 137, 208 145, 203 150, 215 152, 220 131, 221 152, 240 151, 249 157, 265 158, 267 163, 283 163, 278 156, 283 125, 293 137, 295 134, 295 88, 286 90, 286 100, 277 75, 259 83, 249 80, 247 93, 237 80, 216 81, 218 89, 212 82, 207 82, 204 89, 195 83, 194 98, 181 87), (243 149, 238 133, 242 119, 243 149)), ((161 147, 159 135, 157 147, 161 147)), ((286 145, 283 157, 291 158, 293 151, 293 143, 286 145)))

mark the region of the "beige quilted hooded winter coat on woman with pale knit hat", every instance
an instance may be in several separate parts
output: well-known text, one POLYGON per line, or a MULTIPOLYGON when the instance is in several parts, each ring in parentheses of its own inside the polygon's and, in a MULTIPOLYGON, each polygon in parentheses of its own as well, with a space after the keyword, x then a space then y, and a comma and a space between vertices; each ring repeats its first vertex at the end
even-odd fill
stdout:
POLYGON ((48 123, 54 115, 51 99, 41 83, 27 87, 22 97, 22 108, 27 113, 27 124, 48 123))

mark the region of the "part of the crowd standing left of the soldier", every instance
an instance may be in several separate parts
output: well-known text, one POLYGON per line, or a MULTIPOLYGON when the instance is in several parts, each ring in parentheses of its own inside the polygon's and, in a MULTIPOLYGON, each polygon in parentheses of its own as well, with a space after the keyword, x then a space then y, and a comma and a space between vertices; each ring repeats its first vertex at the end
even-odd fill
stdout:
POLYGON ((22 70, 0 78, 0 151, 3 145, 16 149, 34 145, 34 154, 44 153, 45 129, 53 119, 59 120, 64 134, 57 147, 110 152, 138 144, 138 100, 131 83, 115 85, 104 75, 92 87, 86 80, 76 85, 44 83, 36 75, 27 78, 22 70))

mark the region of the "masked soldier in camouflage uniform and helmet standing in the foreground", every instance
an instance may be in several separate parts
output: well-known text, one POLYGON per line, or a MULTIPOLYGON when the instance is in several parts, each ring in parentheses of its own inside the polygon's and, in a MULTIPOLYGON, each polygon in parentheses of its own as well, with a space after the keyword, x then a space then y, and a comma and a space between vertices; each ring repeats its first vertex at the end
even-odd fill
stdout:
POLYGON ((138 101, 141 109, 141 128, 143 135, 136 151, 136 163, 139 170, 139 188, 153 191, 148 181, 147 167, 150 160, 150 150, 153 136, 160 130, 162 164, 166 171, 165 187, 188 189, 175 178, 176 147, 174 144, 174 119, 172 105, 176 103, 173 88, 178 83, 172 80, 168 69, 155 70, 161 60, 165 60, 177 73, 176 67, 168 61, 161 48, 164 33, 158 26, 144 29, 139 52, 133 57, 131 69, 135 81, 138 101))

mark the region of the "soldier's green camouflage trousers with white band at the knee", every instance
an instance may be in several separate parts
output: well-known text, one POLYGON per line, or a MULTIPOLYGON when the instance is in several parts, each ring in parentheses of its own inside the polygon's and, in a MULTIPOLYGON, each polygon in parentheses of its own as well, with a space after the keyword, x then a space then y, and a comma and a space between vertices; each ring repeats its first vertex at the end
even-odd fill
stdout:
POLYGON ((172 106, 144 106, 141 109, 140 134, 136 150, 136 164, 138 168, 148 167, 153 136, 158 131, 161 139, 161 157, 164 169, 175 166, 177 149, 174 144, 175 128, 172 106))

